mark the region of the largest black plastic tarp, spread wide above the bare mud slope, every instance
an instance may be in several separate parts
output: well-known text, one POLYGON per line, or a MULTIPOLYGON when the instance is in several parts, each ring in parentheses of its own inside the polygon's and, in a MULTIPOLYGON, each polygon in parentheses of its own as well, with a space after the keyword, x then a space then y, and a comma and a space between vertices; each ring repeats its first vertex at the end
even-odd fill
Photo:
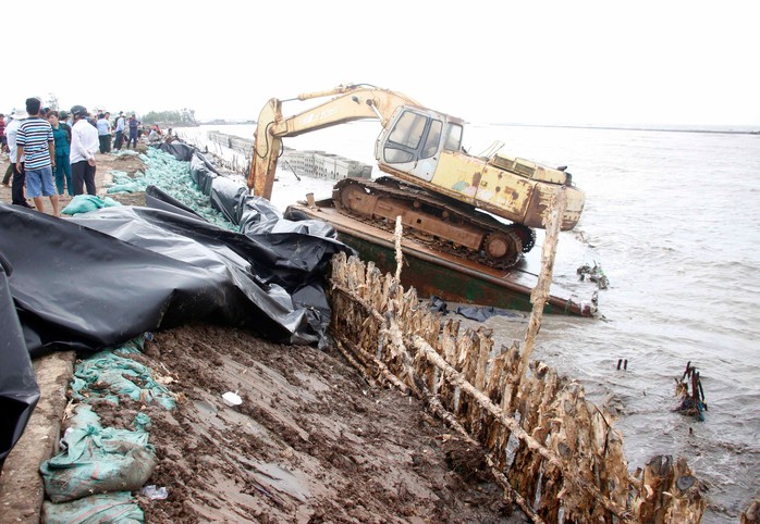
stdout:
POLYGON ((345 249, 301 233, 246 236, 135 207, 57 220, 0 204, 0 253, 14 267, 9 286, 33 355, 100 349, 200 320, 316 342, 329 324, 327 300, 301 296, 321 285, 329 259, 345 249))

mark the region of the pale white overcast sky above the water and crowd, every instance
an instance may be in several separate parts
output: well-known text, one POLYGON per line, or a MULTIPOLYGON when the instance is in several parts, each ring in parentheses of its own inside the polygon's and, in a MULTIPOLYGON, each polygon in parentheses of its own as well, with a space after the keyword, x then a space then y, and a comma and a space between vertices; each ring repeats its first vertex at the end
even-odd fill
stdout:
POLYGON ((3 2, 0 112, 53 93, 61 109, 244 120, 367 83, 476 123, 760 126, 752 0, 200 5, 3 2))

